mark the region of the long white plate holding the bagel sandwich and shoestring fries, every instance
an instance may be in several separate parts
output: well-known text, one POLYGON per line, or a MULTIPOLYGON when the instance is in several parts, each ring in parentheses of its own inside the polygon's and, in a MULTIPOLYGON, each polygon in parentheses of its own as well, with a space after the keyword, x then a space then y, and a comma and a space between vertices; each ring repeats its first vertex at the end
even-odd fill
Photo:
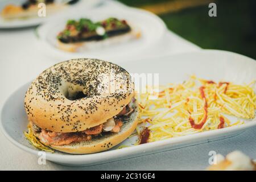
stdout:
MULTIPOLYGON (((133 60, 120 63, 120 65, 130 73, 159 73, 160 84, 183 82, 189 75, 214 81, 231 81, 236 84, 249 83, 256 79, 255 60, 226 51, 204 50, 157 59, 133 60)), ((27 127, 27 116, 23 109, 23 99, 27 88, 28 84, 24 85, 6 101, 2 110, 1 126, 3 133, 11 142, 37 155, 38 150, 35 150, 23 135, 27 127)), ((112 150, 97 154, 70 155, 55 152, 54 154, 47 153, 46 158, 68 166, 89 166, 232 137, 255 125, 256 119, 252 119, 241 126, 205 131, 118 150, 116 146, 112 150)), ((134 137, 126 139, 121 145, 131 145, 134 139, 134 137)))

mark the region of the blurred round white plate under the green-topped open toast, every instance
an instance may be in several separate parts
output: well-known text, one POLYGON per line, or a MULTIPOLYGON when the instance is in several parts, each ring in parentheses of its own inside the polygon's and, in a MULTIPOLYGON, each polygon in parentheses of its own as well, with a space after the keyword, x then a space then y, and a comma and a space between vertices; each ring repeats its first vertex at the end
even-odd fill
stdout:
POLYGON ((117 58, 121 59, 127 55, 138 53, 140 51, 142 52, 151 46, 155 46, 162 40, 166 31, 167 28, 165 24, 158 18, 158 16, 149 13, 148 11, 127 7, 122 9, 98 8, 88 11, 76 11, 68 16, 58 17, 43 24, 38 28, 38 35, 40 50, 57 60, 67 60, 78 57, 111 60, 117 58), (64 29, 67 20, 89 18, 93 21, 98 21, 109 17, 127 20, 128 23, 141 31, 141 38, 79 52, 65 52, 57 48, 56 36, 64 29))

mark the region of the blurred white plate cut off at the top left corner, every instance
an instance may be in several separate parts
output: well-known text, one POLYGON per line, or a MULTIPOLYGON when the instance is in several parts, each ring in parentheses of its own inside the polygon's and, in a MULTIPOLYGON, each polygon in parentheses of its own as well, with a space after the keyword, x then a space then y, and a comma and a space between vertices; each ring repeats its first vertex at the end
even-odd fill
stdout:
MULTIPOLYGON (((3 0, 0 1, 0 13, 2 9, 9 4, 13 5, 22 5, 25 0, 3 0)), ((31 17, 26 19, 13 19, 13 20, 5 20, 0 15, 0 28, 23 28, 23 27, 32 27, 37 26, 41 23, 48 21, 49 19, 53 18, 56 14, 62 14, 68 12, 71 9, 81 9, 81 7, 85 10, 92 9, 92 7, 96 6, 102 0, 80 0, 79 2, 75 3, 74 5, 68 6, 67 9, 63 9, 57 11, 55 14, 51 14, 46 17, 31 17)), ((46 10, 47 13, 47 10, 46 10)))

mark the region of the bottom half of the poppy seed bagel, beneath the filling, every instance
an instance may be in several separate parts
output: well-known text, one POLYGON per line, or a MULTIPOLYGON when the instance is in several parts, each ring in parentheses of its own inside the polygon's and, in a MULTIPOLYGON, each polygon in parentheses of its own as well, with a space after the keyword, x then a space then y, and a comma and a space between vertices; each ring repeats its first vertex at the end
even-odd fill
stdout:
MULTIPOLYGON (((105 150, 109 150, 110 148, 116 146, 121 143, 123 140, 128 138, 133 131, 136 129, 138 125, 138 107, 136 107, 131 113, 129 120, 127 122, 123 122, 123 126, 118 133, 104 133, 102 136, 93 137, 92 140, 87 140, 83 142, 71 143, 63 146, 54 146, 54 145, 44 145, 51 147, 57 151, 66 152, 69 154, 92 154, 96 152, 101 152, 105 150)), ((32 131, 33 134, 39 138, 39 134, 32 131)))

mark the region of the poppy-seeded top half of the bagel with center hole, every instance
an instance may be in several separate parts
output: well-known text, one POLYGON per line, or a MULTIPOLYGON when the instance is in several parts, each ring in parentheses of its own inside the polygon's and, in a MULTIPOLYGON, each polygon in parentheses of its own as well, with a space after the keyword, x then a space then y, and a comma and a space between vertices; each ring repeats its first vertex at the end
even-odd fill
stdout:
POLYGON ((28 120, 44 130, 89 129, 117 115, 134 97, 125 69, 97 59, 73 59, 41 73, 26 92, 28 120))

